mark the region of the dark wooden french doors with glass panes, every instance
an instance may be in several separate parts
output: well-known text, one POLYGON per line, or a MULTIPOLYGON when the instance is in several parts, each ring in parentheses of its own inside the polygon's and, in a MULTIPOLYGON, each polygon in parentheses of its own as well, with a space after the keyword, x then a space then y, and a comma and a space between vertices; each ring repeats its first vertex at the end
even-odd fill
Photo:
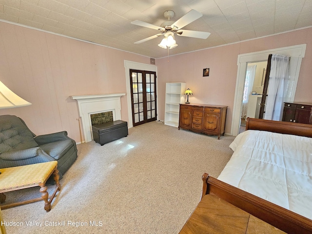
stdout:
POLYGON ((133 126, 155 121, 156 72, 130 69, 133 126))

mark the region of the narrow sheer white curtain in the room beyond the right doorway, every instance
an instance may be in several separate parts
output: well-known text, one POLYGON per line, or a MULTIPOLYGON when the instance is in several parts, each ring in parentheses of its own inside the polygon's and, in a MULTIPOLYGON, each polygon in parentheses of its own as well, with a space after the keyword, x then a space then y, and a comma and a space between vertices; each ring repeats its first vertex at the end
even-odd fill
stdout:
POLYGON ((243 103, 242 103, 242 118, 246 118, 247 116, 247 109, 248 109, 248 99, 249 95, 251 95, 252 88, 254 85, 254 76, 255 76, 255 70, 257 65, 253 66, 247 66, 246 71, 246 78, 245 78, 245 87, 244 87, 244 94, 243 94, 243 103))

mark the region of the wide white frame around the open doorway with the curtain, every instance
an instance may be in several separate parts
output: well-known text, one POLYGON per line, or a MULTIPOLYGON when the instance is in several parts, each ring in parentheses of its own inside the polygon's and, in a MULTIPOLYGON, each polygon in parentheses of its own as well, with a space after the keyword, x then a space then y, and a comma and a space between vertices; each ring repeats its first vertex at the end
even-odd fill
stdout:
POLYGON ((297 82, 299 78, 299 72, 301 67, 302 58, 305 56, 307 44, 300 44, 282 48, 276 48, 265 51, 258 51, 248 54, 238 55, 237 58, 237 77, 235 86, 235 96, 233 104, 233 116, 231 124, 231 135, 237 136, 239 133, 242 99, 244 93, 244 84, 246 78, 246 70, 248 62, 258 62, 268 60, 269 54, 282 54, 291 57, 289 64, 289 75, 293 81, 293 87, 291 91, 291 98, 287 100, 292 102, 294 100, 297 82))

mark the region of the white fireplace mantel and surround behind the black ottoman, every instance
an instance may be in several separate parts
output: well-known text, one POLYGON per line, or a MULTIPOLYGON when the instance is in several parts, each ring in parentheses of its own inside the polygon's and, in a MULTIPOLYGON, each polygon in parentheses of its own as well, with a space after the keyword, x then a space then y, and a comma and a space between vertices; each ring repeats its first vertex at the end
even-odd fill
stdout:
POLYGON ((125 95, 125 93, 118 93, 70 96, 71 99, 77 100, 78 102, 79 114, 82 121, 85 142, 89 142, 92 140, 92 124, 90 115, 106 111, 112 111, 114 121, 120 120, 120 98, 125 95))

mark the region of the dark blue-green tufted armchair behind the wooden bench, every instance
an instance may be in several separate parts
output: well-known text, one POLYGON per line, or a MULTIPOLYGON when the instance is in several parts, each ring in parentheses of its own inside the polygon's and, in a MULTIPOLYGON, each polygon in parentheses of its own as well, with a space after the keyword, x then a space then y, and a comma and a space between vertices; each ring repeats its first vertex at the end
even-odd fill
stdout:
POLYGON ((66 131, 36 136, 20 117, 0 116, 0 168, 57 160, 61 178, 76 159, 76 142, 66 131))

